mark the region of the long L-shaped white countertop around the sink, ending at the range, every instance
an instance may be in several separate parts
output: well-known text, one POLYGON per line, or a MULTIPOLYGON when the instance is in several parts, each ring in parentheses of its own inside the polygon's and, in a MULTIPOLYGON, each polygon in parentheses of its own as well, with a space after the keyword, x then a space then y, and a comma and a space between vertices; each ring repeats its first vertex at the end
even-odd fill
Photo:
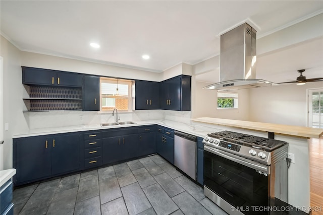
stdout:
POLYGON ((191 124, 191 123, 176 122, 176 121, 164 120, 164 119, 133 121, 133 122, 135 122, 136 124, 113 125, 113 126, 104 126, 104 127, 102 127, 100 124, 92 124, 92 125, 75 125, 75 126, 61 126, 61 127, 30 129, 24 133, 14 135, 13 138, 48 135, 48 134, 58 134, 58 133, 69 133, 69 132, 78 132, 78 131, 88 131, 88 130, 120 128, 120 127, 133 127, 133 126, 153 125, 153 124, 166 126, 171 129, 186 132, 186 133, 193 134, 193 135, 196 135, 199 137, 204 137, 204 136, 206 136, 207 133, 221 131, 219 129, 214 129, 212 127, 201 126, 201 125, 196 125, 196 124, 191 124))

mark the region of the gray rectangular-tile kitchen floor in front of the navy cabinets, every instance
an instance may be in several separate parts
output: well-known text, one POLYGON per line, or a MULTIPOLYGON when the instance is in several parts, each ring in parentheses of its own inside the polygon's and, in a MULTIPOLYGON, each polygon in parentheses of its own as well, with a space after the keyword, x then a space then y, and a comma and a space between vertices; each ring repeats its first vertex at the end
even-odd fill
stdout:
POLYGON ((14 214, 227 214, 159 155, 17 188, 14 214))

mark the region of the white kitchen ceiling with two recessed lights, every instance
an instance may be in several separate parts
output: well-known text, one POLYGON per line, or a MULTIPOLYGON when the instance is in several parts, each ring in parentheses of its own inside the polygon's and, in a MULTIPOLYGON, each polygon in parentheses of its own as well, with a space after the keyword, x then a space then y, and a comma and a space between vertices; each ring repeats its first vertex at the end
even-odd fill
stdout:
MULTIPOLYGON (((323 10, 322 1, 2 0, 0 4, 1 34, 20 50, 155 72, 218 55, 219 36, 245 21, 261 38, 323 10), (100 48, 92 48, 90 42, 100 48), (150 59, 143 59, 143 54, 150 59)), ((295 79, 297 69, 295 65, 295 79)))

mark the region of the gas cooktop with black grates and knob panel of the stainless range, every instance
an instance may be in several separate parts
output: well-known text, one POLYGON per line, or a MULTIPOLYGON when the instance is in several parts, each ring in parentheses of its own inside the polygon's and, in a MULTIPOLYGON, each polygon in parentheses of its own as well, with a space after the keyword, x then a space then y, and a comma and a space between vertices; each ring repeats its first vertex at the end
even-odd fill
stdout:
POLYGON ((209 133, 204 137, 203 143, 206 146, 266 165, 271 164, 273 153, 280 151, 279 149, 283 146, 288 147, 288 142, 285 141, 233 131, 209 133))

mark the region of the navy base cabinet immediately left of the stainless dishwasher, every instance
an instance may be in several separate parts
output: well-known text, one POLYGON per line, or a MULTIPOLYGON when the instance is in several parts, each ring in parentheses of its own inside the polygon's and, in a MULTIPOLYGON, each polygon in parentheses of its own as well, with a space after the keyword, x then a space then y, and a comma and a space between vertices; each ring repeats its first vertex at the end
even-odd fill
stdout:
POLYGON ((174 165, 174 130, 157 126, 157 153, 174 165))

